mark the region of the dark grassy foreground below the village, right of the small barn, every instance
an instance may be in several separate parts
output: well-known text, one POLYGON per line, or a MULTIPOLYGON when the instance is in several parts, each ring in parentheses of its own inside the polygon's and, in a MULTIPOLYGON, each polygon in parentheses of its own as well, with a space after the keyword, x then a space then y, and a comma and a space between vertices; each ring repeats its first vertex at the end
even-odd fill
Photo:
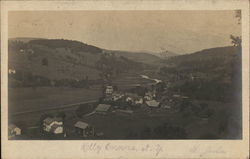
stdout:
MULTIPOLYGON (((140 135, 146 127, 153 130, 155 127, 164 123, 184 128, 188 135, 187 138, 189 139, 199 139, 206 135, 208 137, 213 135, 212 137, 224 139, 236 137, 233 136, 235 134, 233 134, 232 131, 236 131, 238 128, 233 127, 232 124, 226 125, 226 129, 228 129, 226 131, 229 131, 227 134, 220 132, 220 126, 226 124, 225 120, 231 120, 229 110, 234 105, 211 101, 197 102, 206 102, 215 110, 215 113, 209 118, 200 118, 193 115, 184 117, 179 112, 166 109, 159 109, 151 113, 139 109, 135 111, 132 116, 117 115, 116 113, 110 113, 108 115, 95 114, 93 116, 83 117, 81 120, 92 124, 97 132, 103 132, 106 139, 126 139, 129 133, 140 135)), ((76 120, 78 119, 73 119, 73 121, 69 120, 68 122, 73 123, 76 120)), ((235 123, 239 122, 235 119, 233 120, 235 123)))

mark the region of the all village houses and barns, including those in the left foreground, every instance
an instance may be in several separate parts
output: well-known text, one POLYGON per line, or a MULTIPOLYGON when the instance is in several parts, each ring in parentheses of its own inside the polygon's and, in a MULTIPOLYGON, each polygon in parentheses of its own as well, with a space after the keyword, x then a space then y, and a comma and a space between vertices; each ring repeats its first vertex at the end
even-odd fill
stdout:
MULTIPOLYGON (((132 91, 118 91, 112 85, 105 86, 103 89, 103 98, 99 100, 97 106, 92 112, 84 114, 84 116, 91 116, 93 114, 108 115, 109 113, 115 113, 117 115, 125 115, 132 117, 138 111, 144 110, 148 114, 153 112, 163 112, 163 110, 176 110, 177 101, 179 99, 187 99, 188 97, 174 94, 169 98, 166 95, 166 86, 162 85, 160 90, 157 89, 156 83, 154 87, 150 89, 142 87, 140 85, 132 89, 132 91), (177 99, 177 100, 175 100, 177 99)), ((81 138, 95 138, 104 135, 103 132, 96 132, 94 125, 91 125, 82 119, 79 119, 74 123, 74 133, 81 138)), ((67 137, 68 134, 65 131, 65 116, 46 116, 42 119, 40 129, 43 135, 61 136, 67 137)), ((21 128, 11 124, 9 126, 9 138, 20 136, 22 133, 21 128)))

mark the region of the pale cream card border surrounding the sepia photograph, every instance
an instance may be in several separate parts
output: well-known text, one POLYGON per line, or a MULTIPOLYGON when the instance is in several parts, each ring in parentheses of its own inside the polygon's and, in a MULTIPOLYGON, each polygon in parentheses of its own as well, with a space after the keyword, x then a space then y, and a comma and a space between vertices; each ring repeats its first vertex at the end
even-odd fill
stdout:
MULTIPOLYGON (((48 24, 49 25, 49 24, 48 24)), ((249 1, 2 1, 1 144, 4 159, 33 158, 249 158, 249 1), (236 10, 242 11, 242 140, 22 140, 7 138, 8 11, 13 10, 236 10), (150 147, 146 149, 145 147, 150 147)))

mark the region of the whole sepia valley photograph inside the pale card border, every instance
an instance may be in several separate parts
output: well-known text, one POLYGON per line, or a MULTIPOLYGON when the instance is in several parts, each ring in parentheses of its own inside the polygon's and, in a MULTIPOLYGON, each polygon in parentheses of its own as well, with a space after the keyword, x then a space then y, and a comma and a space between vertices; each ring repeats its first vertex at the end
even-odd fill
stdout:
POLYGON ((9 140, 242 139, 240 10, 10 11, 9 140))

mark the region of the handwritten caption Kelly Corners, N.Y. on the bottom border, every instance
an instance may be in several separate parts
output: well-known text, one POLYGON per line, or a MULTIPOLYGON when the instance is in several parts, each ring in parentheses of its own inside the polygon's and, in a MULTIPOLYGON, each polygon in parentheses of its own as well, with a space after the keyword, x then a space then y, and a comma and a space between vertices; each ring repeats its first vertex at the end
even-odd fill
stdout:
POLYGON ((103 152, 144 152, 151 153, 153 156, 158 156, 163 152, 163 147, 160 144, 145 144, 145 145, 123 145, 123 144, 114 144, 114 143, 83 143, 81 145, 81 150, 83 152, 92 152, 100 154, 103 152))

